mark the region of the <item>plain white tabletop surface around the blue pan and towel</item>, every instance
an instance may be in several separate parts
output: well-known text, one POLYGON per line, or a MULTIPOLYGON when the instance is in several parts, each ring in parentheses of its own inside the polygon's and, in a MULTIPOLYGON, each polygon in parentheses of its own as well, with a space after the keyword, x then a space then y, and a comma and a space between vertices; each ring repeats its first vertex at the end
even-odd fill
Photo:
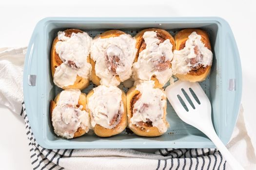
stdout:
MULTIPOLYGON (((254 0, 125 0, 122 4, 121 0, 6 0, 0 2, 0 47, 27 46, 36 23, 43 17, 223 17, 233 30, 240 53, 242 103, 248 133, 255 143, 255 7, 254 0)), ((30 170, 23 119, 3 106, 0 133, 0 169, 30 170)))

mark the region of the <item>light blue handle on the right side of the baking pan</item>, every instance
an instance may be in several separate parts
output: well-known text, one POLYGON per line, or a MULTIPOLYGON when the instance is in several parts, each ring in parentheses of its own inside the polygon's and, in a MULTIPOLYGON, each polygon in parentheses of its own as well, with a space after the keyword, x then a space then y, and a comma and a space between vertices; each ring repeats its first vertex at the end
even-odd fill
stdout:
MULTIPOLYGON (((236 119, 240 107, 241 102, 241 94, 242 94, 242 70, 241 70, 241 63, 240 63, 240 56, 239 52, 236 46, 236 40, 232 33, 232 30, 229 26, 229 24, 226 22, 224 25, 226 29, 223 32, 223 40, 226 47, 223 47, 224 58, 223 60, 226 60, 224 63, 226 63, 226 66, 223 66, 223 84, 224 84, 224 95, 226 99, 224 108, 225 112, 227 114, 225 115, 225 126, 230 126, 231 131, 234 130, 234 127, 236 125, 236 119), (226 74, 225 74, 226 73, 226 74)), ((231 137, 225 136, 226 142, 229 141, 231 137)), ((225 143, 225 142, 224 142, 225 143)))

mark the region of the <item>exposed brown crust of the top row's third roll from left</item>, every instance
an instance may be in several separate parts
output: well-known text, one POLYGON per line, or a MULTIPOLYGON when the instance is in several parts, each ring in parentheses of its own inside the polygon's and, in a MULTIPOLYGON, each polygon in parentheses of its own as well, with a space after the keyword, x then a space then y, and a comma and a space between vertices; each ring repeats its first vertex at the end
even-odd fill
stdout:
MULTIPOLYGON (((143 35, 145 32, 156 32, 157 33, 157 38, 159 40, 159 43, 163 43, 166 39, 169 39, 170 40, 170 43, 172 44, 172 49, 171 51, 174 51, 175 50, 175 40, 173 38, 173 36, 168 33, 167 31, 165 30, 162 30, 162 29, 158 29, 158 28, 149 28, 149 29, 144 29, 142 31, 140 31, 136 36, 135 36, 135 39, 136 39, 136 48, 138 49, 137 51, 137 54, 136 54, 136 57, 135 57, 135 63, 138 62, 138 58, 139 58, 139 53, 143 50, 146 49, 147 45, 145 43, 145 40, 143 38, 143 35)), ((161 56, 161 58, 158 60, 158 64, 156 64, 156 71, 160 72, 160 71, 163 71, 163 70, 166 70, 168 68, 171 68, 171 60, 172 60, 172 57, 173 57, 173 53, 171 52, 171 57, 169 59, 166 59, 166 56, 161 56)), ((151 59, 150 59, 151 60, 151 59)), ((144 65, 144 64, 143 64, 144 65)), ((138 69, 140 67, 138 66, 138 69)), ((139 72, 137 73, 138 71, 134 70, 134 79, 138 79, 138 80, 141 80, 140 76, 138 74, 140 74, 139 72), (136 75, 137 74, 137 75, 136 75)), ((163 73, 163 75, 166 74, 166 73, 163 73)), ((169 78, 171 77, 171 69, 170 69, 170 76, 169 78)), ((159 76, 159 77, 162 77, 159 76)), ((155 86, 158 87, 158 88, 161 88, 167 81, 164 80, 162 83, 159 82, 159 77, 155 74, 153 74, 148 80, 143 80, 143 81, 149 81, 149 80, 153 80, 155 81, 155 86)))

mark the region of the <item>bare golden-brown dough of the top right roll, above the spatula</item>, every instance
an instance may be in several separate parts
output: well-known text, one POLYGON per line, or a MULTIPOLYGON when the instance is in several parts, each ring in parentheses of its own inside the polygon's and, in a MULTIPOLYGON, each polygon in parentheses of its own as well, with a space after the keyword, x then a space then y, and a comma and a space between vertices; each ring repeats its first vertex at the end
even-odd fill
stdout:
MULTIPOLYGON (((201 35, 201 41, 204 43, 204 46, 207 47, 209 50, 211 50, 211 44, 210 40, 208 37, 208 34, 200 29, 194 29, 194 28, 188 28, 179 31, 175 35, 175 43, 176 43, 176 50, 182 50, 185 47, 185 43, 188 39, 188 36, 196 32, 198 35, 201 35)), ((201 82, 206 79, 208 74, 210 73, 211 66, 206 66, 206 67, 199 67, 195 70, 190 70, 187 74, 176 74, 175 76, 179 80, 183 81, 189 81, 189 82, 201 82)))

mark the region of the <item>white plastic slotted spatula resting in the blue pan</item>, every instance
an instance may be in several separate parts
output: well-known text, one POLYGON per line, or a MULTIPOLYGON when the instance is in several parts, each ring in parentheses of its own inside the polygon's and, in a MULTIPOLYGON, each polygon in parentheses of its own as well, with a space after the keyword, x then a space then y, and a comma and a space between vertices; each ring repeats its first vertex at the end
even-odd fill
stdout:
POLYGON ((225 157, 232 170, 243 170, 217 136, 211 117, 211 103, 198 83, 178 80, 165 89, 166 96, 180 119, 208 136, 225 157), (183 101, 183 102, 182 102, 183 101))

